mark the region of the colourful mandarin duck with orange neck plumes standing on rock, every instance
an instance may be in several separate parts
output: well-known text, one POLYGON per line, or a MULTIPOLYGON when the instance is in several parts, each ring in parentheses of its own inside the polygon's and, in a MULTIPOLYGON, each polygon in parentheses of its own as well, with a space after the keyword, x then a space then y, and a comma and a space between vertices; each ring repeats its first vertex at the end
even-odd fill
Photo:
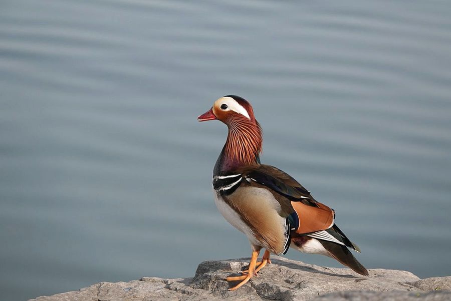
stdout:
POLYGON ((251 243, 249 268, 235 290, 266 264, 270 254, 285 254, 291 246, 301 252, 335 258, 355 272, 368 276, 348 248, 359 247, 335 224, 335 211, 315 200, 306 188, 284 171, 260 162, 262 128, 251 104, 236 95, 217 99, 197 117, 198 121, 220 120, 229 128, 227 140, 213 168, 216 206, 227 221, 246 234, 251 243), (261 261, 257 261, 266 248, 261 261))

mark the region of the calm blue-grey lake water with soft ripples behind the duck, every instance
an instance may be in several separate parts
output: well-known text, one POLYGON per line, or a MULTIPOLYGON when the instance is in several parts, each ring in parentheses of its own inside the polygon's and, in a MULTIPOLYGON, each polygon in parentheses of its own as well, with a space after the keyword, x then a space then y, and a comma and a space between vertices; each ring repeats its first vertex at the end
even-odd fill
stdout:
POLYGON ((250 256, 212 197, 227 129, 196 121, 226 94, 366 267, 450 275, 450 16, 439 0, 2 1, 1 298, 250 256))

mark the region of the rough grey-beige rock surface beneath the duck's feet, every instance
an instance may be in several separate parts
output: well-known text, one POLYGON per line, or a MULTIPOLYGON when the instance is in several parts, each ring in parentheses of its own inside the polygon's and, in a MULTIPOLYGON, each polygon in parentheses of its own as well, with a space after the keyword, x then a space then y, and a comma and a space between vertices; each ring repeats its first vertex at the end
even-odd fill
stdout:
POLYGON ((100 282, 78 291, 41 296, 32 301, 63 300, 451 300, 451 276, 420 279, 411 272, 369 269, 369 277, 348 268, 322 267, 272 257, 236 291, 226 276, 244 269, 249 258, 210 260, 199 264, 194 277, 143 277, 130 282, 100 282))

